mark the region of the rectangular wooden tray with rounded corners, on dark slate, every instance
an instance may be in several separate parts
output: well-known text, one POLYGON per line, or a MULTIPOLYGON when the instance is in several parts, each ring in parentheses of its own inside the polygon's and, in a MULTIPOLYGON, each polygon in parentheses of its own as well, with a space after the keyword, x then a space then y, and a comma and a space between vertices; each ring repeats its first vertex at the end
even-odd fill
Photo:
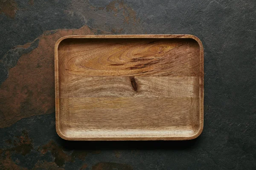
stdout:
POLYGON ((187 140, 203 130, 193 35, 82 35, 55 45, 56 130, 67 140, 187 140))

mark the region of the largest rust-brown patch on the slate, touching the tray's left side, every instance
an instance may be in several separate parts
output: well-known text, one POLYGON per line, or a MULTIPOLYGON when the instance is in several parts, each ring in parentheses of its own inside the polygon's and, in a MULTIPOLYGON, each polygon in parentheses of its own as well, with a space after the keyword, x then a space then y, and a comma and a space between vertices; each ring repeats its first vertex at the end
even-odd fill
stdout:
POLYGON ((20 57, 0 86, 0 128, 11 126, 25 117, 55 111, 55 42, 66 35, 81 34, 93 34, 93 31, 87 26, 47 31, 36 39, 39 40, 38 48, 20 57))

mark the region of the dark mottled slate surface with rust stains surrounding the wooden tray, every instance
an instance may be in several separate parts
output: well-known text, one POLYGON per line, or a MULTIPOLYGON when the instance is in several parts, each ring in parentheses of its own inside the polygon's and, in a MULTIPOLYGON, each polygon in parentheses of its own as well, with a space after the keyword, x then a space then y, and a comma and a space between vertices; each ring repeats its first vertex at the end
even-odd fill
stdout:
POLYGON ((255 0, 0 0, 0 169, 256 169, 255 0), (54 44, 77 34, 194 34, 204 130, 191 141, 68 142, 54 44))

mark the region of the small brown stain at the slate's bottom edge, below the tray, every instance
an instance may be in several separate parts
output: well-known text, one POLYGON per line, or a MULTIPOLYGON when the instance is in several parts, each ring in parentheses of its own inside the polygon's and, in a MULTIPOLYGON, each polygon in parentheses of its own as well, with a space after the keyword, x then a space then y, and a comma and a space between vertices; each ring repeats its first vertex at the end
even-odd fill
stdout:
POLYGON ((93 170, 133 170, 128 164, 119 164, 113 162, 100 162, 93 166, 93 170))

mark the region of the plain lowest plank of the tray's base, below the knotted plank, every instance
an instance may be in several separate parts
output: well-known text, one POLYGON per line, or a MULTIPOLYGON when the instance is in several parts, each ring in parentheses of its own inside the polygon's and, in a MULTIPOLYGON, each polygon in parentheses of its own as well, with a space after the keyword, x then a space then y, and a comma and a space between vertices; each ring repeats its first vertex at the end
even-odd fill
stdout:
POLYGON ((190 114, 198 112, 190 110, 195 100, 198 98, 68 98, 64 119, 70 127, 83 130, 178 129, 191 127, 190 114))

